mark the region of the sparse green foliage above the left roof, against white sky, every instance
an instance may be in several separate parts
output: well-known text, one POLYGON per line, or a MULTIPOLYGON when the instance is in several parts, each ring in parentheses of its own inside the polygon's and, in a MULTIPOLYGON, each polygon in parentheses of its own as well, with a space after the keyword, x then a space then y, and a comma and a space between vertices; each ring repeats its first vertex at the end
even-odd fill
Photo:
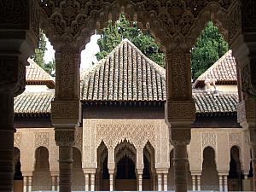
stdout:
POLYGON ((49 73, 50 75, 55 75, 55 60, 49 61, 45 63, 44 61, 44 52, 47 50, 46 48, 46 40, 44 36, 44 32, 39 30, 39 41, 38 48, 35 49, 35 54, 31 56, 31 58, 38 64, 38 66, 42 67, 44 71, 49 73))

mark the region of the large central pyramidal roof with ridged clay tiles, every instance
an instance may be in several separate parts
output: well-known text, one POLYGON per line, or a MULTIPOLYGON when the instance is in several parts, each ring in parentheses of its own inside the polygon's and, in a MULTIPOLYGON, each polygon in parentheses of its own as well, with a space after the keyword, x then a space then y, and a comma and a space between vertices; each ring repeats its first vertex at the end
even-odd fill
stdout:
POLYGON ((84 101, 162 101, 165 69, 124 40, 84 74, 81 96, 84 101))

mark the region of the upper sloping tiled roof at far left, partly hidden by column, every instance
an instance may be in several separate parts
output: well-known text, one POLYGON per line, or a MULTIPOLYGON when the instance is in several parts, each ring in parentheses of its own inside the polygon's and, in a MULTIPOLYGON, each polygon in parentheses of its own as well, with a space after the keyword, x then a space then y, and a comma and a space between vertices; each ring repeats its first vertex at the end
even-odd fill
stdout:
POLYGON ((55 87, 55 81, 49 73, 32 59, 29 58, 27 61, 30 65, 26 66, 26 84, 46 84, 49 88, 55 87))

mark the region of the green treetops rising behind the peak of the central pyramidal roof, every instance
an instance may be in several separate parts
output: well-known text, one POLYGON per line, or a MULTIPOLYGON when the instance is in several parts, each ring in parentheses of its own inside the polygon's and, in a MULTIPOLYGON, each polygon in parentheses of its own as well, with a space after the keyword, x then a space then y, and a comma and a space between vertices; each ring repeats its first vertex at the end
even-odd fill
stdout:
POLYGON ((114 25, 110 20, 108 26, 103 29, 102 36, 97 41, 100 47, 100 52, 96 54, 97 60, 107 56, 125 38, 149 59, 164 67, 164 54, 154 42, 150 32, 142 32, 138 29, 137 22, 133 22, 131 26, 130 21, 126 20, 123 14, 119 15, 119 20, 114 25))

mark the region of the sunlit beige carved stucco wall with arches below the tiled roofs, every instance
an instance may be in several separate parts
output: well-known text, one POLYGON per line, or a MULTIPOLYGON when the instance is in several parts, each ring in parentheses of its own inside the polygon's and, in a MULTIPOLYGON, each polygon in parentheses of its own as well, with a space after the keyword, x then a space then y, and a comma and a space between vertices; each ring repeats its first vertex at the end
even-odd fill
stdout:
MULTIPOLYGON (((172 145, 169 141, 168 127, 164 119, 84 119, 83 127, 75 132, 76 142, 74 150, 73 189, 84 189, 83 169, 96 169, 97 150, 102 141, 108 148, 116 148, 126 140, 138 149, 150 143, 154 148, 154 167, 166 168, 168 173, 168 189, 173 189, 173 170, 170 164, 172 145), (169 169, 170 167, 170 169, 169 169)), ((249 171, 250 148, 248 133, 241 128, 198 128, 191 130, 191 143, 188 146, 189 169, 191 174, 201 174, 203 170, 203 150, 211 147, 215 152, 218 172, 229 172, 230 148, 237 146, 240 150, 241 170, 249 171)), ((35 174, 36 149, 47 148, 49 151, 49 168, 47 168, 46 182, 50 176, 58 175, 58 148, 55 145, 54 130, 51 128, 18 129, 15 133, 15 147, 20 149, 21 172, 23 176, 35 174), (26 162, 26 163, 25 163, 26 162)), ((113 158, 114 159, 114 158, 113 158)), ((33 175, 36 177, 36 174, 33 175)), ((189 174, 190 177, 190 174, 189 174)), ((202 178, 203 179, 203 178, 202 178)), ((203 180, 202 180, 203 182, 203 180)), ((207 184, 209 187, 211 184, 207 184)), ((217 189, 217 184, 212 185, 217 189)), ((37 187, 38 188, 38 187, 37 187)), ((191 188, 191 177, 189 179, 191 188)), ((211 188, 211 186, 210 186, 211 188)), ((203 188, 202 188, 203 189, 203 188)), ((207 189, 207 188, 206 188, 207 189)))

